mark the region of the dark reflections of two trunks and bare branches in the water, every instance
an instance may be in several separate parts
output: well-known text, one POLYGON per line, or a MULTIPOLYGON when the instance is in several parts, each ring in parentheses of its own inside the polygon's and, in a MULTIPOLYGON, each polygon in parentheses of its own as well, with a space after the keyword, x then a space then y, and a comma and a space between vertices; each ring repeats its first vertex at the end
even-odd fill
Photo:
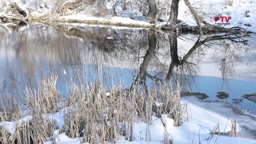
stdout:
MULTIPOLYGON (((150 36, 150 34, 148 35, 150 36)), ((215 49, 216 44, 220 45, 221 50, 219 50, 218 53, 216 54, 218 55, 218 57, 216 58, 220 59, 219 70, 221 71, 223 80, 225 80, 228 75, 233 74, 234 62, 239 60, 236 54, 236 52, 238 52, 241 48, 239 43, 247 44, 248 42, 247 40, 245 40, 244 35, 223 34, 213 36, 202 36, 200 34, 197 36, 197 41, 188 50, 188 52, 184 54, 183 57, 180 57, 178 55, 177 38, 180 38, 180 36, 177 35, 175 32, 168 33, 168 40, 165 38, 165 41, 169 43, 171 59, 165 80, 168 82, 171 79, 173 79, 175 81, 179 81, 181 85, 187 84, 188 86, 191 84, 191 82, 194 81, 195 77, 199 73, 199 65, 197 63, 193 63, 192 60, 200 62, 200 57, 204 55, 204 50, 215 49), (234 47, 231 48, 230 44, 233 44, 234 47)), ((149 41, 153 43, 155 40, 149 38, 149 41)), ((154 81, 161 81, 161 78, 151 76, 145 72, 145 67, 148 67, 149 63, 148 59, 153 58, 153 52, 157 53, 153 50, 155 50, 155 44, 149 43, 148 52, 144 57, 142 66, 139 69, 139 73, 137 75, 135 82, 137 82, 138 79, 140 79, 143 80, 145 83, 145 76, 147 76, 150 79, 153 79, 154 81)), ((159 61, 158 65, 162 65, 160 63, 161 62, 159 61)))

